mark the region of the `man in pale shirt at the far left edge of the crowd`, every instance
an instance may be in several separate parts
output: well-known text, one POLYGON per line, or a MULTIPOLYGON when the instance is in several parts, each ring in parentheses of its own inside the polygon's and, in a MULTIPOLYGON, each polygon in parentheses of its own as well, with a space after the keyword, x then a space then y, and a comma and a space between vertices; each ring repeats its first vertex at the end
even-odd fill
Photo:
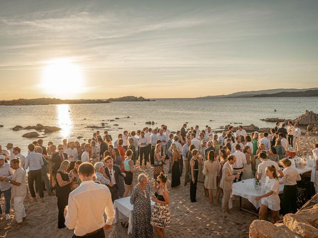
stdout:
MULTIPOLYGON (((4 163, 4 156, 0 155, 0 196, 4 194, 5 200, 5 220, 10 220, 10 207, 11 207, 11 183, 3 181, 4 178, 12 179, 13 170, 8 163, 4 163)), ((0 206, 0 216, 2 215, 2 209, 0 206)))

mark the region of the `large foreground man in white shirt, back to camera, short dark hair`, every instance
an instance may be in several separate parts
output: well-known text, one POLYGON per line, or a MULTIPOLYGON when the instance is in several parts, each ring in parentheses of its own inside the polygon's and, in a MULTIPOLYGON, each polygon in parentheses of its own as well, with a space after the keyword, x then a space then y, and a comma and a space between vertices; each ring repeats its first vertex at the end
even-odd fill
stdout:
POLYGON ((75 229, 76 237, 105 238, 104 231, 111 229, 115 218, 109 188, 94 183, 93 177, 94 167, 90 163, 82 163, 79 166, 79 179, 82 182, 70 193, 65 208, 65 225, 70 230, 75 229), (104 213, 107 216, 106 223, 104 213))

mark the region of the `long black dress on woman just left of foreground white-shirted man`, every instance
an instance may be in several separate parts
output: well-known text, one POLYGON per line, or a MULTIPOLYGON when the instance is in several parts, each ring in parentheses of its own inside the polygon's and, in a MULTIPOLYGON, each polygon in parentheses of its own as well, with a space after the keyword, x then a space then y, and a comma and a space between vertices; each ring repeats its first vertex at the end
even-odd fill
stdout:
MULTIPOLYGON (((58 171, 56 174, 60 174, 63 181, 69 181, 69 175, 67 173, 62 173, 58 171)), ((57 182, 56 196, 58 197, 58 228, 65 228, 65 218, 64 218, 64 209, 68 205, 69 195, 71 192, 71 184, 60 187, 57 182)))

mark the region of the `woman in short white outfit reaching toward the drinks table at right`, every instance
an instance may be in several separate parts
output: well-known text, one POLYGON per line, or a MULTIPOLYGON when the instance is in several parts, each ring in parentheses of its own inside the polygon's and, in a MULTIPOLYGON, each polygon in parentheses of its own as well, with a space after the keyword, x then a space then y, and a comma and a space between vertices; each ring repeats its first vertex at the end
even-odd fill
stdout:
POLYGON ((272 222, 276 223, 279 220, 279 210, 280 210, 280 199, 278 196, 279 192, 279 181, 276 173, 275 167, 266 167, 266 180, 265 180, 265 190, 266 193, 262 196, 255 197, 255 201, 261 199, 261 206, 259 208, 259 220, 266 220, 267 208, 271 210, 272 222))

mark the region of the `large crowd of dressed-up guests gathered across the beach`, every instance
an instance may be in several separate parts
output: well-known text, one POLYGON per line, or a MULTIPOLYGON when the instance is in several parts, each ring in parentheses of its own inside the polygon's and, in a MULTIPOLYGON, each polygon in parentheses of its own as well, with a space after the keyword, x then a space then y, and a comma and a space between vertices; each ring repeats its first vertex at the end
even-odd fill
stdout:
MULTIPOLYGON (((229 213, 233 182, 259 180, 261 195, 255 198, 261 200, 259 219, 266 219, 269 208, 276 221, 280 210, 283 214, 297 211, 300 176, 285 157, 288 145, 300 151, 299 140, 298 124, 289 122, 286 129, 285 124, 280 127, 277 122, 270 133, 247 134, 241 125, 237 131, 229 125, 220 136, 209 126, 200 130, 198 125, 187 128, 186 123, 175 134, 161 125, 154 129, 125 130, 115 140, 108 131, 103 136, 96 131, 81 144, 63 139, 59 145, 49 141, 44 147, 39 139, 28 145, 26 156, 21 154, 20 147, 8 143, 7 150, 0 147, 0 192, 5 198, 5 217, 10 219, 12 196, 15 219, 21 226, 26 217, 24 198, 30 193, 36 201, 38 194, 44 202, 44 191, 47 191, 48 195, 57 196, 58 228, 75 229, 75 237, 87 234, 103 237, 102 228, 108 231, 114 219, 114 201, 130 195, 134 205, 132 236, 151 237, 154 228, 159 238, 163 238, 164 228, 171 224, 169 179, 163 167, 168 164, 166 174, 171 174, 172 192, 183 180, 184 186, 189 183, 191 202, 196 202, 197 182, 203 182, 203 192, 210 204, 220 206, 222 202, 223 213, 229 213), (134 171, 147 166, 153 169, 156 188, 153 197, 150 178, 145 174, 138 176, 138 184, 133 184, 134 171), (282 179, 278 180, 279 177, 282 179), (285 184, 283 203, 278 196, 279 183, 285 184), (213 191, 216 191, 215 198, 213 191), (151 200, 155 202, 153 210, 151 200)), ((318 144, 313 154, 317 170, 318 144)), ((318 192, 318 173, 314 182, 318 192)))

